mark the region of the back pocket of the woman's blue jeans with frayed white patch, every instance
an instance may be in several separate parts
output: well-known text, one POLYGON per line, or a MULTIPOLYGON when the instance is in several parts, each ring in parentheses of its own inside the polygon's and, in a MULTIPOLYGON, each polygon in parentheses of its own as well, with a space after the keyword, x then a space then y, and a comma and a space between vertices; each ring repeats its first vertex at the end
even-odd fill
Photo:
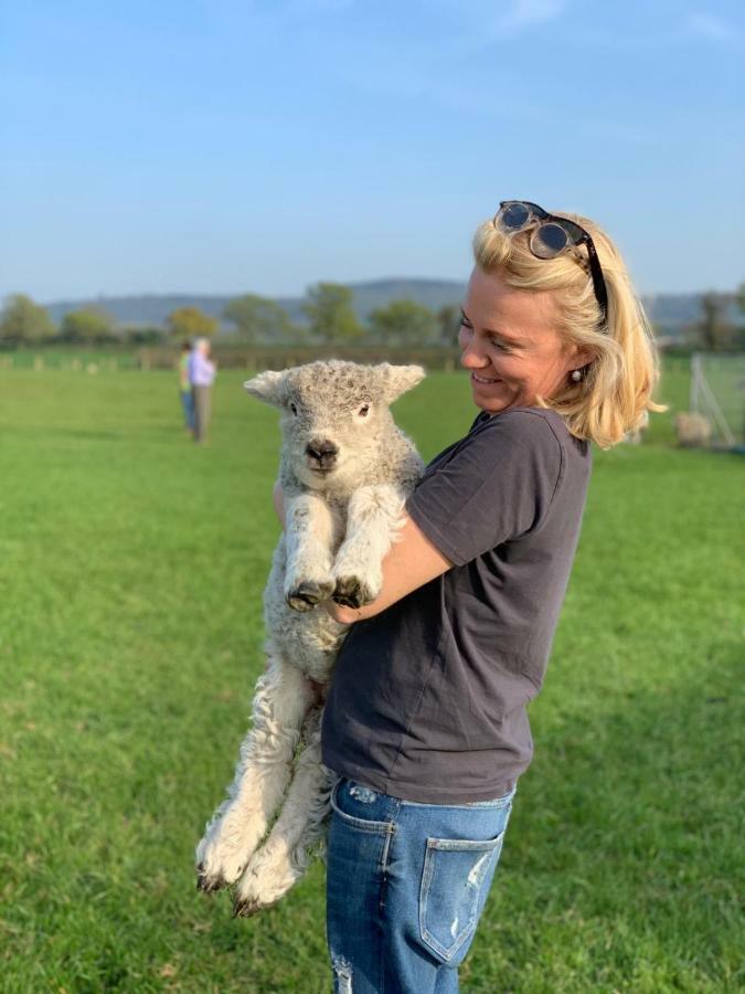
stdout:
POLYGON ((428 838, 419 891, 422 941, 444 963, 466 955, 504 832, 486 842, 428 838))

